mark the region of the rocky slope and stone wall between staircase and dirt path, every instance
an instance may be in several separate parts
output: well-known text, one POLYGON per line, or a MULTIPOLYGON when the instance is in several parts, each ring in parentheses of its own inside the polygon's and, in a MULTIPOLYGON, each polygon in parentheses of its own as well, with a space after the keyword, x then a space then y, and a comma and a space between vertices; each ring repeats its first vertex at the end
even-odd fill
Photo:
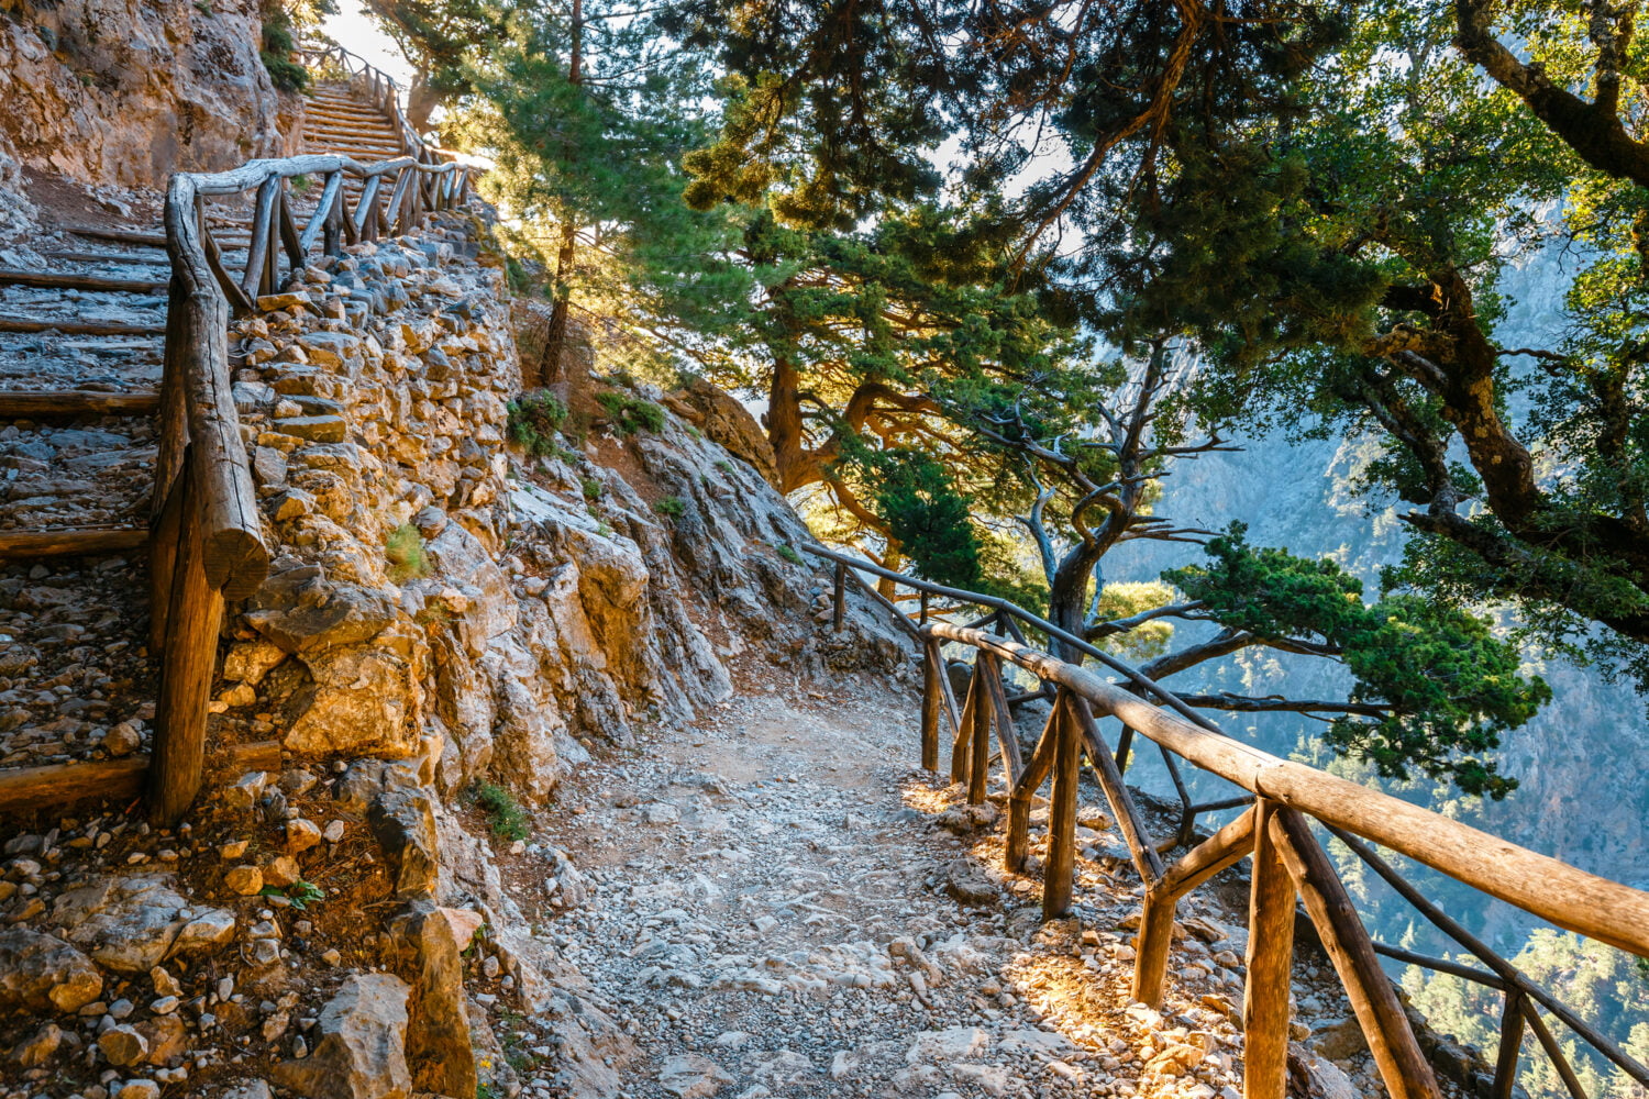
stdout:
MULTIPOLYGON (((521 910, 577 905, 579 872, 513 839, 569 771, 684 728, 740 666, 909 676, 862 596, 829 628, 800 519, 693 404, 587 379, 556 427, 511 417, 485 213, 317 260, 231 333, 275 565, 231 606, 208 740, 267 763, 175 830, 114 806, 7 829, 16 1094, 468 1097, 498 1020, 579 987, 521 910)), ((0 605, 84 598, 43 577, 7 568, 0 605)), ((569 1051, 605 1025, 556 1018, 569 1051)))

